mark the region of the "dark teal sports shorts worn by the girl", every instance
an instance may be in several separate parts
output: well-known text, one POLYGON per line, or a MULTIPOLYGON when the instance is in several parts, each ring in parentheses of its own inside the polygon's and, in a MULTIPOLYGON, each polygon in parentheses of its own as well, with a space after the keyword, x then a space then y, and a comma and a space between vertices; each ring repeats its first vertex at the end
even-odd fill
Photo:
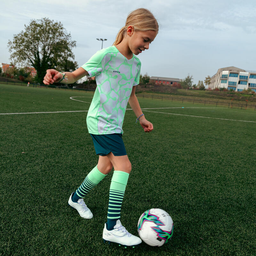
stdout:
MULTIPOLYGON (((91 133, 90 133, 91 134, 91 133)), ((110 152, 114 156, 125 156, 127 155, 122 139, 122 133, 112 134, 91 134, 96 155, 106 156, 110 152)))

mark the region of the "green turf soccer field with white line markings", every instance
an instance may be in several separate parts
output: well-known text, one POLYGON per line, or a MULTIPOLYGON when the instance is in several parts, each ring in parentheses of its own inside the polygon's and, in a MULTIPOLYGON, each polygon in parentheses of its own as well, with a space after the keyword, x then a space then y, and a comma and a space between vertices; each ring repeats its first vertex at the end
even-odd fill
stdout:
POLYGON ((122 224, 136 235, 150 208, 174 221, 170 242, 134 250, 102 241, 111 173, 84 199, 91 220, 68 206, 98 160, 85 123, 92 96, 0 84, 0 255, 255 255, 255 111, 139 97, 154 124, 144 133, 127 109, 122 224))

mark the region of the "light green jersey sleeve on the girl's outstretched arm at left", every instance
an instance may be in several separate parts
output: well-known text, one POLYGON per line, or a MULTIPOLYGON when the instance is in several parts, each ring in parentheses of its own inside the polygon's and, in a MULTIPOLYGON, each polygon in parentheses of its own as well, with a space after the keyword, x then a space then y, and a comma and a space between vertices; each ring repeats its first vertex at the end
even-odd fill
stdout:
POLYGON ((106 52, 103 50, 96 52, 94 55, 92 55, 90 60, 88 60, 83 66, 81 66, 82 68, 84 68, 84 70, 88 72, 90 77, 98 76, 103 70, 102 67, 104 67, 104 65, 102 65, 102 60, 106 55, 106 52))

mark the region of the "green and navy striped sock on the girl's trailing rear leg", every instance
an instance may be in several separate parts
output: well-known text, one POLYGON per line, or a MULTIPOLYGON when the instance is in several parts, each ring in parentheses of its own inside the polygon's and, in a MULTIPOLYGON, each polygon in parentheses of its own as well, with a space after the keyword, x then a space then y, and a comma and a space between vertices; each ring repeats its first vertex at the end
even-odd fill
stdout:
POLYGON ((101 173, 97 165, 85 177, 84 182, 76 189, 76 193, 72 196, 72 201, 77 203, 80 198, 83 198, 92 188, 94 188, 107 174, 101 173))

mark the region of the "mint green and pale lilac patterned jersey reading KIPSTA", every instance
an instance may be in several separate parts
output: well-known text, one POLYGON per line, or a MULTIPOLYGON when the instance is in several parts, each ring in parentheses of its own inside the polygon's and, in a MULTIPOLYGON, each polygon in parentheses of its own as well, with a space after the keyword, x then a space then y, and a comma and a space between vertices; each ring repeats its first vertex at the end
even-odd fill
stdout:
POLYGON ((115 46, 96 52, 82 68, 95 76, 97 88, 86 123, 89 133, 123 133, 124 114, 132 87, 140 82, 140 60, 131 60, 115 46))

